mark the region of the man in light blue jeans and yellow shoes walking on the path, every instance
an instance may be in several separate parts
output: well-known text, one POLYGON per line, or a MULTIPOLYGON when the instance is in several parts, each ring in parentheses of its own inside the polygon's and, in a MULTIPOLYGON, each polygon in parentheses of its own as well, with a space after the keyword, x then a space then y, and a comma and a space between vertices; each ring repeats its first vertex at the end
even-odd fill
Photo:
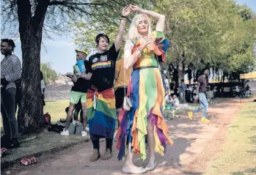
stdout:
POLYGON ((194 113, 197 113, 203 109, 201 122, 203 122, 203 123, 211 122, 211 120, 206 119, 208 101, 205 97, 205 92, 206 92, 206 87, 207 87, 206 77, 208 75, 209 75, 209 70, 205 70, 205 72, 202 75, 200 75, 200 77, 197 80, 197 96, 195 98, 195 101, 197 101, 197 99, 199 97, 200 106, 198 108, 194 109, 193 112, 189 112, 190 120, 193 119, 194 113))

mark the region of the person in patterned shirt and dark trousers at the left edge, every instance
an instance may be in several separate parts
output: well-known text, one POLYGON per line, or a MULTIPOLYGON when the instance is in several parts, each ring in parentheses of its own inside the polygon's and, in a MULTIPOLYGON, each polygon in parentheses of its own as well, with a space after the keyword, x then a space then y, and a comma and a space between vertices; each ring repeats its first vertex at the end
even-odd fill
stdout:
POLYGON ((21 78, 21 61, 18 56, 12 54, 15 48, 13 40, 1 40, 1 115, 3 118, 4 136, 1 138, 1 146, 7 149, 17 148, 18 123, 15 117, 15 81, 21 78), (3 141, 3 142, 2 142, 3 141))

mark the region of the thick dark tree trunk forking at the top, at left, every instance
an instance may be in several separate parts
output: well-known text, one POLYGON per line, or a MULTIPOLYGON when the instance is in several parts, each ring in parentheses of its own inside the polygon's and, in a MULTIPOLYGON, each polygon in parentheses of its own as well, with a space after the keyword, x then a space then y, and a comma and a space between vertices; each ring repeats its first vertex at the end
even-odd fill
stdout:
POLYGON ((21 108, 18 119, 21 133, 33 133, 43 126, 43 100, 40 87, 40 51, 43 21, 49 0, 39 0, 32 17, 29 0, 18 0, 18 21, 21 37, 22 75, 21 108))

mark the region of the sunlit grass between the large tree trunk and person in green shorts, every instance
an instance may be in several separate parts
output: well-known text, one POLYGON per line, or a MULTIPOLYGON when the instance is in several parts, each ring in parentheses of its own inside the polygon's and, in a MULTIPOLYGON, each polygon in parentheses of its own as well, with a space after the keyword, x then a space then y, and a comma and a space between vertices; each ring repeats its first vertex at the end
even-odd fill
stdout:
POLYGON ((66 119, 65 108, 69 106, 69 100, 46 100, 43 113, 50 113, 51 122, 57 122, 59 119, 66 119))

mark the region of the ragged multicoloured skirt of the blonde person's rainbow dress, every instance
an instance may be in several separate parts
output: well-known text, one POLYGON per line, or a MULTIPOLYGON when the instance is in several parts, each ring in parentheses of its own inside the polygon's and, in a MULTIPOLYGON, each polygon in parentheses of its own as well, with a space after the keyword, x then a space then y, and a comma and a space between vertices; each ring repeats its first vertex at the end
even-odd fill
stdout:
POLYGON ((166 144, 172 145, 169 130, 163 117, 164 86, 158 68, 134 70, 131 75, 131 111, 120 113, 118 120, 120 127, 117 130, 117 149, 120 149, 118 159, 125 156, 125 144, 131 143, 133 152, 139 154, 142 160, 146 159, 145 136, 147 135, 147 121, 153 123, 155 138, 155 152, 164 155, 166 144), (147 87, 147 88, 146 88, 147 87))

